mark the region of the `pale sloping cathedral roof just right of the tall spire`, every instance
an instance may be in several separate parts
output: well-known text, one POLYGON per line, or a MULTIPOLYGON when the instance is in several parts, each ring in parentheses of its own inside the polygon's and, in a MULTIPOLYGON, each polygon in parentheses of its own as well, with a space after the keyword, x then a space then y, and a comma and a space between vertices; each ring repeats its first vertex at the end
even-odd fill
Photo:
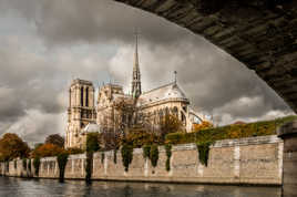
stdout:
POLYGON ((145 105, 164 100, 183 100, 188 102, 182 89, 176 83, 170 83, 141 94, 139 105, 145 105))

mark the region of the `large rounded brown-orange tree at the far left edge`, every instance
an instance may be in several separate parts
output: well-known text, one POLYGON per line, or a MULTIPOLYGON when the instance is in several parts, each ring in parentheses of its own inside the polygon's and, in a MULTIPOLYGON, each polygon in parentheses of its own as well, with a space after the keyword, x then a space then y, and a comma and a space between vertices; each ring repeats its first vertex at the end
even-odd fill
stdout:
POLYGON ((30 148, 17 134, 7 133, 0 138, 0 156, 2 160, 10 160, 17 157, 28 157, 30 148))

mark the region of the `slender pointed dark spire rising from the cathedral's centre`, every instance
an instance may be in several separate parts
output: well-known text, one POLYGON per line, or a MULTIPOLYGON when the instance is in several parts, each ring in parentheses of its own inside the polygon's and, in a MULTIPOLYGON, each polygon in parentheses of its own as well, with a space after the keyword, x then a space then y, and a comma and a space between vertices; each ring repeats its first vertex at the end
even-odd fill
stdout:
POLYGON ((133 76, 132 76, 132 95, 137 98, 141 91, 141 71, 139 62, 139 33, 135 33, 135 53, 134 53, 134 64, 133 64, 133 76))

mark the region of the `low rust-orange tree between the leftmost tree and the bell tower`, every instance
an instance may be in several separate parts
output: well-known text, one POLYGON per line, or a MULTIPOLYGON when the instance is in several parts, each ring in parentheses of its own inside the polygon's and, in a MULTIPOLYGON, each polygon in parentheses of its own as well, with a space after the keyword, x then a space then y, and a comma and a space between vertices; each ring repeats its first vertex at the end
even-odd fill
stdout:
POLYGON ((63 153, 64 149, 54 144, 43 144, 32 152, 32 157, 51 157, 63 153))

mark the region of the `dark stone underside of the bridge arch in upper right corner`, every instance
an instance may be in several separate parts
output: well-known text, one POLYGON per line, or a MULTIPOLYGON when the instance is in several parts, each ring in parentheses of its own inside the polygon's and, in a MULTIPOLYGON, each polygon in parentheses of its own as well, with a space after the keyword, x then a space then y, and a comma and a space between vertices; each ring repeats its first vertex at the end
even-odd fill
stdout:
POLYGON ((295 0, 114 0, 203 35, 255 70, 297 112, 295 0))

